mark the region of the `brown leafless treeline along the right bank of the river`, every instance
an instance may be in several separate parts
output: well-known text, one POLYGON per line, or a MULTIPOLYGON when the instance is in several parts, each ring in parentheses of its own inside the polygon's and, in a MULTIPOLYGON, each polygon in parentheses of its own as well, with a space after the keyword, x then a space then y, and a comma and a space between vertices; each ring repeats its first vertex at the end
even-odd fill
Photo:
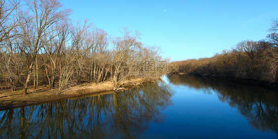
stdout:
POLYGON ((261 41, 245 40, 210 58, 171 62, 171 73, 278 82, 278 18, 261 41))

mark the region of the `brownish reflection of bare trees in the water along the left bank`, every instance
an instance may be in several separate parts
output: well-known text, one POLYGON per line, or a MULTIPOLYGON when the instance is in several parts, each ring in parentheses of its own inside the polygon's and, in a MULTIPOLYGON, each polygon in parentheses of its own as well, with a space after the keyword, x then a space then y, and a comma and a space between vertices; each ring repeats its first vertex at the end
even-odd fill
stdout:
POLYGON ((136 138, 150 122, 163 122, 161 110, 172 104, 172 95, 159 81, 119 93, 0 111, 0 137, 136 138))

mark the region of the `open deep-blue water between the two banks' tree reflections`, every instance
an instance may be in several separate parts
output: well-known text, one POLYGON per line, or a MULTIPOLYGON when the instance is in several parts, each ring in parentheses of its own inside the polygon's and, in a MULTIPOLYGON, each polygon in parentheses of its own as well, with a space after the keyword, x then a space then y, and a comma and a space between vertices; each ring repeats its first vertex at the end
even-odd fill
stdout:
MULTIPOLYGON (((177 76, 177 75, 173 75, 177 76)), ((171 76, 168 76, 171 78, 171 76)), ((189 83, 172 84, 164 81, 175 91, 173 105, 163 110, 166 114, 162 124, 150 124, 140 138, 144 139, 277 139, 276 131, 264 131, 253 127, 236 106, 221 101, 219 91, 212 87, 192 88, 189 83)), ((200 78, 192 75, 179 75, 178 78, 200 78)), ((201 79, 209 80, 209 79, 201 79)), ((213 80, 210 80, 212 82, 213 80)), ((220 81, 221 82, 221 81, 220 81)), ((234 84, 226 82, 227 84, 234 84)), ((241 85, 239 87, 249 87, 241 85)), ((260 89, 259 93, 274 93, 260 89)), ((276 103, 277 104, 277 103, 276 103)), ((273 126, 277 128, 277 105, 273 126)), ((265 127, 261 127, 265 128, 265 127)))

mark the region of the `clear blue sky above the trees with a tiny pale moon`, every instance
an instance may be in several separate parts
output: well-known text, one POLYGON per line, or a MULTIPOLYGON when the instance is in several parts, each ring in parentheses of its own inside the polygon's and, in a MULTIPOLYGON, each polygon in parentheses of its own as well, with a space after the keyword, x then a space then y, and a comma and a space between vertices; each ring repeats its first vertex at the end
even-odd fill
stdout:
POLYGON ((109 35, 142 33, 171 60, 211 57, 243 40, 259 41, 278 17, 278 0, 60 0, 71 18, 89 19, 109 35))

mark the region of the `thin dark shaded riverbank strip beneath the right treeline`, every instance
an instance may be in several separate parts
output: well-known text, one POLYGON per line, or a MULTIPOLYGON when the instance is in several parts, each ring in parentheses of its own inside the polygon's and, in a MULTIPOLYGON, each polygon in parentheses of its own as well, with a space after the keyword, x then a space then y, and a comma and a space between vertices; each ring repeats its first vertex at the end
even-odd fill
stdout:
POLYGON ((238 78, 232 78, 232 77, 225 77, 225 76, 219 76, 219 75, 198 75, 198 74, 192 74, 192 73, 172 73, 172 74, 179 74, 179 75, 195 75, 199 77, 205 77, 205 78, 213 78, 213 79, 220 79, 220 80, 227 80, 233 83, 239 83, 244 84, 248 86, 256 86, 265 88, 268 90, 273 90, 278 92, 278 84, 277 83, 269 83, 265 81, 255 81, 255 80, 246 80, 246 79, 238 79, 238 78))

